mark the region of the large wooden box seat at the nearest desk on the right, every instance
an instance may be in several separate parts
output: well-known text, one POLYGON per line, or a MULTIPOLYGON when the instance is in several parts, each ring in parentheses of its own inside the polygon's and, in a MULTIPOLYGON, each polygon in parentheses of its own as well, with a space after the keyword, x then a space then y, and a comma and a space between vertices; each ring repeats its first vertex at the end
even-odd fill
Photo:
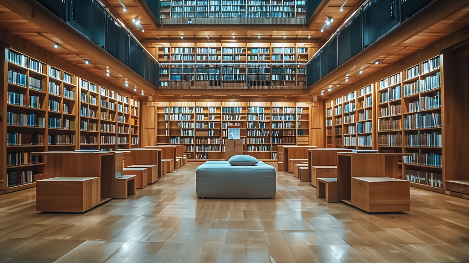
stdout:
POLYGON ((367 212, 410 210, 408 180, 389 177, 352 177, 352 205, 367 212))

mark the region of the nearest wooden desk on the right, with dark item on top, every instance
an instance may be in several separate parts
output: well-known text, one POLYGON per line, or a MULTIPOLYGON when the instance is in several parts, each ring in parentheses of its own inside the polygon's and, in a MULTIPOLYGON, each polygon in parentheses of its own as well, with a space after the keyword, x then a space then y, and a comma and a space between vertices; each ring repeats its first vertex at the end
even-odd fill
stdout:
POLYGON ((340 200, 351 203, 352 177, 390 177, 399 179, 399 156, 411 153, 337 153, 337 181, 340 200))

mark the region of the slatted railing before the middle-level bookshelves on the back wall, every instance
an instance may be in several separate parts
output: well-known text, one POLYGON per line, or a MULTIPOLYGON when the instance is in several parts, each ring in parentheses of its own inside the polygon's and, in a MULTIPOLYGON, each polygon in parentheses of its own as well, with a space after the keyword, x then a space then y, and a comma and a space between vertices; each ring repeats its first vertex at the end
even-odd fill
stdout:
POLYGON ((171 63, 160 64, 160 89, 303 90, 306 64, 171 63))

